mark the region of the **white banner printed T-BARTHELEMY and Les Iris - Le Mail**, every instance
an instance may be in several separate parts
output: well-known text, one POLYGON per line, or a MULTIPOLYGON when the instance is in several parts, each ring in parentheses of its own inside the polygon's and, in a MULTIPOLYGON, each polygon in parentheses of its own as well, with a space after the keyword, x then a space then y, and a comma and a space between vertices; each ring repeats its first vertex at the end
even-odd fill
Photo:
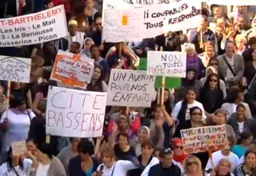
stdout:
POLYGON ((64 6, 0 19, 0 47, 29 46, 67 36, 64 6))

